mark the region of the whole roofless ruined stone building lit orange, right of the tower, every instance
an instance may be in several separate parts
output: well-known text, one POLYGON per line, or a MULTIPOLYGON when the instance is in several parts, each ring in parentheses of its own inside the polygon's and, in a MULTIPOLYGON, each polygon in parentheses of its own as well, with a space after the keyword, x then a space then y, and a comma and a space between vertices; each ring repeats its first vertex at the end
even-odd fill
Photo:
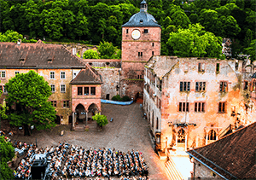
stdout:
POLYGON ((253 122, 244 61, 153 56, 143 109, 159 150, 185 151, 253 122), (245 72, 245 73, 242 73, 245 72))

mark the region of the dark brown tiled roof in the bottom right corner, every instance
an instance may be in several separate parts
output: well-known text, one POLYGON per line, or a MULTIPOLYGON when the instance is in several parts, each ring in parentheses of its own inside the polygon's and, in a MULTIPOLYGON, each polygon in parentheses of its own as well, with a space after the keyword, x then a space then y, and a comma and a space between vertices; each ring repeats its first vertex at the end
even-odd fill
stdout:
POLYGON ((188 153, 227 179, 256 177, 256 123, 188 153))

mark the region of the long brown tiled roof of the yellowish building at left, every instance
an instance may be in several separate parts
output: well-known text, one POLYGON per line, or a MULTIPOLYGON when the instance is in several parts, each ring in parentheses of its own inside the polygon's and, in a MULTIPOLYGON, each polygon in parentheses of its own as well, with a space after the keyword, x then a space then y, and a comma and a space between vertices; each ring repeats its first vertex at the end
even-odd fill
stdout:
POLYGON ((85 63, 61 44, 0 43, 0 67, 84 67, 85 63))

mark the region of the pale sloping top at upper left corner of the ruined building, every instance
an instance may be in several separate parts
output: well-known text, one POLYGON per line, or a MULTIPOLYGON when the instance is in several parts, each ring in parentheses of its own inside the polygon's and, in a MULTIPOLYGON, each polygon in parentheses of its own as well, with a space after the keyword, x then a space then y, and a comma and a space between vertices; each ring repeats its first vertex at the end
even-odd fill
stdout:
POLYGON ((172 70, 172 67, 177 63, 176 56, 153 56, 146 64, 146 67, 153 70, 157 77, 160 79, 166 75, 166 73, 172 70))

